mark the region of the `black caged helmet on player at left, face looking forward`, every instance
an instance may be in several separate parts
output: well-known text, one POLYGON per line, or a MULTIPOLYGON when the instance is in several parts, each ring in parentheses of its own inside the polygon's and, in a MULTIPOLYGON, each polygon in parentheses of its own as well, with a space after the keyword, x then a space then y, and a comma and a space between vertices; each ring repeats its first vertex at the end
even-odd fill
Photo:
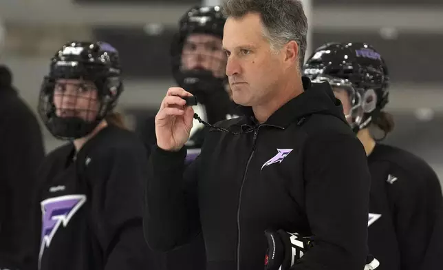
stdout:
POLYGON ((114 109, 122 91, 114 47, 104 42, 69 42, 51 59, 41 85, 39 115, 56 138, 82 138, 114 109))

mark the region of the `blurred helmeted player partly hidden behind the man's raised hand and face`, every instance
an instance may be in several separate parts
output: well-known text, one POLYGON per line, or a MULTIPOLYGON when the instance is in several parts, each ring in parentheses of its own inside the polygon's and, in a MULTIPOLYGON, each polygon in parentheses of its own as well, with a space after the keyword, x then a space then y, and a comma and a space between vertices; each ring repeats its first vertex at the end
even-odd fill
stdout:
MULTIPOLYGON (((175 82, 197 98, 198 104, 193 108, 208 123, 237 115, 237 106, 230 99, 227 58, 222 48, 225 21, 219 6, 195 6, 180 19, 178 32, 171 44, 175 82)), ((186 143, 188 161, 199 153, 207 132, 208 127, 193 121, 191 137, 186 143)), ((140 134, 147 143, 155 144, 153 118, 140 129, 140 134)))

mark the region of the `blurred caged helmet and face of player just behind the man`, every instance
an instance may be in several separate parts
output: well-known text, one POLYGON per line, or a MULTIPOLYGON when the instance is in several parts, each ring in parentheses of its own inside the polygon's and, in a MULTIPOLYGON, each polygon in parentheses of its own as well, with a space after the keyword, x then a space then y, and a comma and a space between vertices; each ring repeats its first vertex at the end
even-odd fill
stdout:
POLYGON ((225 21, 218 6, 191 8, 180 20, 171 47, 173 76, 193 94, 223 88, 227 82, 222 49, 225 21))

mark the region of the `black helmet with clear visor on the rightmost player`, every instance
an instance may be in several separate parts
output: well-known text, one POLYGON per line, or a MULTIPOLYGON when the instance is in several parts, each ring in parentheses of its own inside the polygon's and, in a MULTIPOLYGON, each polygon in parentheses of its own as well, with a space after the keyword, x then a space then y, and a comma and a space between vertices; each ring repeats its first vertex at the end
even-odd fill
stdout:
POLYGON ((328 81, 347 90, 354 132, 367 127, 388 103, 389 74, 382 56, 367 43, 326 43, 303 65, 314 82, 328 81))

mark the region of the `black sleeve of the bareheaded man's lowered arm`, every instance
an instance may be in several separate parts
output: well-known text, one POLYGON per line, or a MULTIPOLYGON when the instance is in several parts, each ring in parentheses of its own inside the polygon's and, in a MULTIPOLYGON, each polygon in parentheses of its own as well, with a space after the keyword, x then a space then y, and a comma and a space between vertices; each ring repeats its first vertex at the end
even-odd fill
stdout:
POLYGON ((314 246, 294 270, 364 269, 371 176, 354 136, 322 135, 305 148, 305 211, 314 246))

